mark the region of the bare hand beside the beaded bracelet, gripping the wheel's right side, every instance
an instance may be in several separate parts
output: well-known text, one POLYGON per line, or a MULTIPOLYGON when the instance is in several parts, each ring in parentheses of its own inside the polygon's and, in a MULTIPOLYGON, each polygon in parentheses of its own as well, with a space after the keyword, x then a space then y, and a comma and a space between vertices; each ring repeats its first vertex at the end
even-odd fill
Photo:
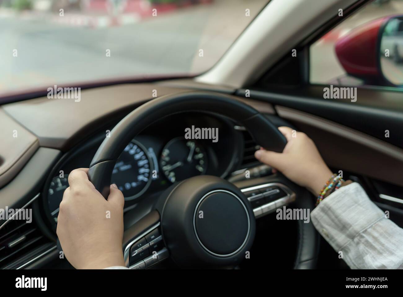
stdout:
POLYGON ((293 135, 293 129, 289 127, 279 127, 278 130, 287 139, 283 152, 260 149, 255 152, 256 159, 274 167, 291 181, 318 196, 332 176, 332 171, 323 161, 315 143, 305 133, 294 132, 293 135))

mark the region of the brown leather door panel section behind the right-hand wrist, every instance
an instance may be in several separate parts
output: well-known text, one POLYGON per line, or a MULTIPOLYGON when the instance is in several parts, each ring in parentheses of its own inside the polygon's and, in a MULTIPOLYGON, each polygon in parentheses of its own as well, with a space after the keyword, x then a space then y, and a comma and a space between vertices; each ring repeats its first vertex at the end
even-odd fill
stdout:
POLYGON ((401 148, 299 110, 283 106, 275 109, 312 138, 329 166, 403 186, 401 148))

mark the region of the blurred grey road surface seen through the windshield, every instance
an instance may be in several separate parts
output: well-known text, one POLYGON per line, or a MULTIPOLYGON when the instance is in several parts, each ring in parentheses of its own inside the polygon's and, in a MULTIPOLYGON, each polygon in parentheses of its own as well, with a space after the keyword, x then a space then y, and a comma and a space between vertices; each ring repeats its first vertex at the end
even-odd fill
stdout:
POLYGON ((106 78, 205 71, 265 2, 216 1, 139 23, 96 29, 50 23, 46 17, 0 18, 0 93, 106 78), (245 7, 251 10, 250 17, 245 17, 245 7), (13 57, 15 49, 17 57, 13 57), (108 49, 110 57, 106 56, 108 49), (199 49, 203 49, 203 57, 199 57, 199 49))

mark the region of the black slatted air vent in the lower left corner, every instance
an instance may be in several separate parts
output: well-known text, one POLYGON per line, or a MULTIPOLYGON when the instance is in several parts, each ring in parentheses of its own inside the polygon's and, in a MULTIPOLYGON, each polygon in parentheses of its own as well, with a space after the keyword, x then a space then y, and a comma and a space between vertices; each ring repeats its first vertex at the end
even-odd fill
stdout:
POLYGON ((0 267, 10 268, 27 253, 47 243, 36 223, 22 220, 9 220, 0 229, 0 267))

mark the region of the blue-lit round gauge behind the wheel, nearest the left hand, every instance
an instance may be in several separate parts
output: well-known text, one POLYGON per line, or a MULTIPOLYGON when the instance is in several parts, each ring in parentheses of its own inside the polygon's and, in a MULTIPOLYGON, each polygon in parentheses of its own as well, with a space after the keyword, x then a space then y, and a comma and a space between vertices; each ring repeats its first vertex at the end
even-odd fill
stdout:
POLYGON ((146 148, 132 140, 116 161, 111 182, 122 191, 125 200, 132 200, 141 196, 150 186, 152 170, 146 148))

